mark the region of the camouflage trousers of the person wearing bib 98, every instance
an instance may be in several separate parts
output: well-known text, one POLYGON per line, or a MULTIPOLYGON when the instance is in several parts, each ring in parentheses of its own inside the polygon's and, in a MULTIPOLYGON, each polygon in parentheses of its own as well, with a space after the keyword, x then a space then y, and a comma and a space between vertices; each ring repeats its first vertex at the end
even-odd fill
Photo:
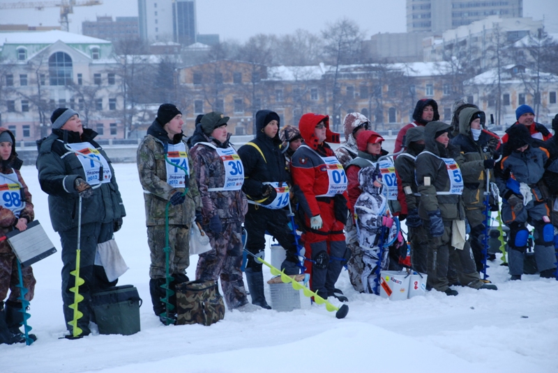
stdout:
MULTIPOLYGON (((22 267, 23 286, 27 289, 25 299, 31 301, 35 295, 35 284, 37 280, 33 276, 31 267, 22 267)), ((10 290, 9 301, 20 303, 17 298, 20 296, 20 275, 17 272, 17 259, 13 253, 0 254, 0 302, 6 299, 8 289, 10 290)))

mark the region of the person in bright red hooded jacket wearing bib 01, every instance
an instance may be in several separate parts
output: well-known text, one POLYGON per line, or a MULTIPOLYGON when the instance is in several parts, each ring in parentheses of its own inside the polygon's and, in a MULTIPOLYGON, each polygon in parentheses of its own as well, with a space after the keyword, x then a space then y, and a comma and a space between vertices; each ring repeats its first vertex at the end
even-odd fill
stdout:
POLYGON ((305 214, 305 265, 310 289, 327 299, 335 296, 335 283, 350 257, 343 233, 349 213, 347 176, 326 143, 339 143, 339 134, 329 130, 328 116, 306 113, 299 129, 304 145, 292 156, 291 175, 301 190, 299 209, 305 214))

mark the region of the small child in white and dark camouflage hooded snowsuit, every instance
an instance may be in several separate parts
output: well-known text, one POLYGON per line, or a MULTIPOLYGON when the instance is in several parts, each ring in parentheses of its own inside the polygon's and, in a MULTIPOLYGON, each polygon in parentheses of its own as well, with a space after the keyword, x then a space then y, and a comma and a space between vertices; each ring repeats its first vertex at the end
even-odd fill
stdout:
MULTIPOLYGON (((375 270, 377 268, 377 260, 380 253, 380 235, 382 227, 384 234, 384 243, 398 237, 398 243, 402 244, 402 236, 398 232, 397 225, 393 223, 393 216, 387 204, 387 198, 382 193, 384 188, 380 183, 382 174, 376 166, 368 166, 359 171, 359 181, 362 193, 356 200, 354 212, 356 214, 356 224, 359 230, 359 245, 363 252, 363 272, 361 280, 365 293, 372 293, 373 279, 375 278, 375 270), (389 232, 388 232, 389 231, 389 232)), ((381 269, 389 267, 389 249, 386 248, 382 253, 381 269)))

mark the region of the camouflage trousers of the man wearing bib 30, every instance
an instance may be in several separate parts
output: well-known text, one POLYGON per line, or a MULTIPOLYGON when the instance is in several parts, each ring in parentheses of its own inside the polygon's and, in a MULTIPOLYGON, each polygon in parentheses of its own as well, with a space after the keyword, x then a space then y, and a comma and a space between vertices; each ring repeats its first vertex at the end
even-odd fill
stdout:
POLYGON ((240 269, 242 262, 242 225, 239 221, 221 219, 223 232, 209 236, 211 251, 199 255, 196 268, 196 280, 221 279, 223 298, 229 310, 248 303, 246 289, 240 269))

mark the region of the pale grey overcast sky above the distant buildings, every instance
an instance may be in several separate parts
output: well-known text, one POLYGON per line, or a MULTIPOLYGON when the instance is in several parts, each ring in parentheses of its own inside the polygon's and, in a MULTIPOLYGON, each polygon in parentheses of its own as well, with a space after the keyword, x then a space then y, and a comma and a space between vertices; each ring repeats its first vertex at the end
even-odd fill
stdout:
MULTIPOLYGON (((28 2, 0 3, 22 1, 28 2)), ((196 6, 198 32, 218 33, 220 40, 243 42, 257 33, 282 35, 296 29, 319 33, 326 24, 342 17, 354 19, 367 36, 406 31, 405 0, 197 0, 196 6)), ((82 22, 95 21, 97 15, 137 17, 137 0, 104 0, 99 6, 77 6, 70 15, 70 32, 81 33, 82 22)), ((524 0, 523 16, 544 17, 546 30, 558 33, 558 0, 524 0)), ((0 24, 57 26, 59 9, 0 9, 0 24)))

